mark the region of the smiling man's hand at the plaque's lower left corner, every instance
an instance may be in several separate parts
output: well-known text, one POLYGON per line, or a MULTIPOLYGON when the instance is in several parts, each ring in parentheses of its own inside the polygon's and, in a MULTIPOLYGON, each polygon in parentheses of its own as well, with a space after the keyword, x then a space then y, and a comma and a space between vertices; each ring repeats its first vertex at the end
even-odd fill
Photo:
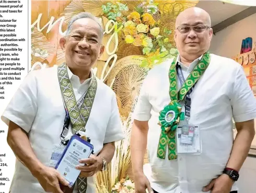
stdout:
POLYGON ((64 186, 69 185, 57 170, 46 166, 34 176, 38 179, 38 182, 46 192, 63 193, 60 188, 60 183, 64 186))

